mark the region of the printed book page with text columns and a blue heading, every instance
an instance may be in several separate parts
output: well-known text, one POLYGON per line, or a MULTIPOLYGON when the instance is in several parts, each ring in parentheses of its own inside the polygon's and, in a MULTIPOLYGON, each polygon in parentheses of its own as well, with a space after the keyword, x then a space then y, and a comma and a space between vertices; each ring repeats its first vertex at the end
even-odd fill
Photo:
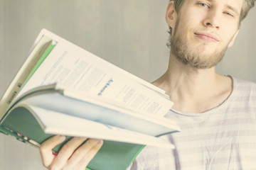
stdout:
POLYGON ((105 96, 142 113, 164 116, 169 111, 173 103, 166 96, 116 72, 109 65, 70 42, 59 41, 21 94, 36 86, 58 82, 88 94, 105 96))

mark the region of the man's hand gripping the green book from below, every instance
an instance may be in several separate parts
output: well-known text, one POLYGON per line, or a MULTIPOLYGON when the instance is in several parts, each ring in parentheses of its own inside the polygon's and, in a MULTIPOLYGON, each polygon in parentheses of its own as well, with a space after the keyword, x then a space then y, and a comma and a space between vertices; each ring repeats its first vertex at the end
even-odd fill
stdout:
POLYGON ((40 154, 43 166, 47 169, 82 169, 95 157, 103 144, 102 140, 93 140, 84 137, 73 137, 67 142, 57 155, 54 155, 52 149, 63 142, 65 136, 56 135, 51 137, 40 147, 40 154), (85 142, 85 140, 87 140, 85 142), (85 142, 85 143, 83 143, 85 142))

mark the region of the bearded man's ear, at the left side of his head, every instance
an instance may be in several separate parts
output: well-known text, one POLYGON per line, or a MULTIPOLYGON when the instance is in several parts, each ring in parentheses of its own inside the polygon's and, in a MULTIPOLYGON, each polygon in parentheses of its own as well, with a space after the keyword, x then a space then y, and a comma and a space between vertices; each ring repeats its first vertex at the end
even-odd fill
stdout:
POLYGON ((166 22, 174 29, 176 23, 177 13, 174 8, 174 1, 170 1, 166 11, 166 22))

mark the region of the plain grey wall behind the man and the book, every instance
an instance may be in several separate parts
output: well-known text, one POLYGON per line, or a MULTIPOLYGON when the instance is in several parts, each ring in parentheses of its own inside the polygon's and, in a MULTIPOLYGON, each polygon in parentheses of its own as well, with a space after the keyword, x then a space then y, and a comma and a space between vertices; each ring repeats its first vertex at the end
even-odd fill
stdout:
MULTIPOLYGON (((167 0, 0 0, 0 95, 28 55, 41 28, 132 74, 153 81, 166 71, 169 49, 167 0)), ((256 8, 220 74, 256 82, 256 8)), ((44 169, 38 149, 0 134, 0 169, 44 169)))

